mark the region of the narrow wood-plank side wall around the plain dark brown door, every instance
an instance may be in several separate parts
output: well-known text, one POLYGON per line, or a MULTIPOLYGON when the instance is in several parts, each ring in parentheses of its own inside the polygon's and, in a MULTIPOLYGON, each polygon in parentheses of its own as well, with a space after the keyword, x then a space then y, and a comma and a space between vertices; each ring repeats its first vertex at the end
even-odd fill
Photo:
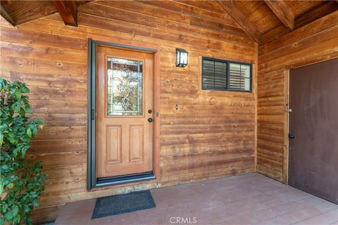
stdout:
POLYGON ((289 70, 338 57, 338 12, 259 47, 257 171, 287 183, 289 70))

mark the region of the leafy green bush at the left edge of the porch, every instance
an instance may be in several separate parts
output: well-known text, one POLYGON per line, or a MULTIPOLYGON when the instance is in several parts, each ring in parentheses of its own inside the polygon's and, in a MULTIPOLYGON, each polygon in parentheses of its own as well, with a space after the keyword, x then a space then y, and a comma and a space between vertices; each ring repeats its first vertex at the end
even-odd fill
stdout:
POLYGON ((0 224, 32 224, 28 214, 39 205, 46 174, 41 162, 25 160, 30 140, 42 129, 41 120, 29 120, 32 114, 25 83, 8 82, 0 77, 0 224))

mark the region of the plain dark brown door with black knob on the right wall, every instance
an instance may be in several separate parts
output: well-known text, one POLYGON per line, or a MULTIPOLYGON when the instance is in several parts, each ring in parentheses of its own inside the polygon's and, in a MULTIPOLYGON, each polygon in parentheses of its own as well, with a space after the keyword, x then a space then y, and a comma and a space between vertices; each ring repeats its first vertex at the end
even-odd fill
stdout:
POLYGON ((290 71, 290 108, 289 185, 338 203, 338 59, 290 71))

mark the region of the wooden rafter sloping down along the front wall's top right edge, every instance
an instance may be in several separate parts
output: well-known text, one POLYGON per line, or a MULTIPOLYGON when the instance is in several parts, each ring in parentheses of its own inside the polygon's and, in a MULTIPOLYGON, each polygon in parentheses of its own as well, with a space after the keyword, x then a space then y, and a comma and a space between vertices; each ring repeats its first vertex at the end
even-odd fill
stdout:
POLYGON ((261 43, 261 33, 246 19, 246 16, 232 3, 232 1, 218 1, 220 7, 236 21, 243 30, 258 44, 261 43))

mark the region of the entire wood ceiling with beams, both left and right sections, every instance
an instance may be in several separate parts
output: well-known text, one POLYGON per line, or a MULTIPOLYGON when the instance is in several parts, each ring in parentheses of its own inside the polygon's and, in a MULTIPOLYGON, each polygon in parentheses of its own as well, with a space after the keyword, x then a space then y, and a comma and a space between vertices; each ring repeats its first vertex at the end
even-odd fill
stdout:
MULTIPOLYGON (((1 0, 1 16, 16 26, 59 13, 65 25, 77 26, 77 6, 90 1, 1 0)), ((163 1, 172 2, 172 1, 163 1)), ((338 1, 178 1, 216 13, 227 13, 258 44, 296 30, 338 10, 338 1)), ((151 4, 151 1, 147 1, 151 4)), ((154 1, 154 4, 156 1, 154 1)))

